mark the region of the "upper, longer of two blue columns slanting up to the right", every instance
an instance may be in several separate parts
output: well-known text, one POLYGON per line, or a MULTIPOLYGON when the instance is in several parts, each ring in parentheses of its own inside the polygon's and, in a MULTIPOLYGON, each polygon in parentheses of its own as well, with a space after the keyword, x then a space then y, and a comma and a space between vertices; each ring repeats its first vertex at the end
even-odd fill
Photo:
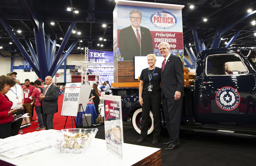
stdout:
POLYGON ((57 63, 59 61, 59 58, 61 57, 61 54, 62 54, 62 52, 63 52, 63 50, 64 50, 64 48, 65 48, 65 46, 67 44, 67 40, 69 39, 69 36, 71 35, 75 24, 76 24, 75 21, 71 22, 71 24, 69 26, 69 29, 67 30, 67 33, 66 33, 66 35, 65 35, 65 37, 64 37, 64 39, 63 39, 63 41, 61 43, 61 46, 59 47, 58 53, 56 54, 56 57, 55 57, 55 59, 53 61, 53 65, 51 66, 51 69, 49 71, 49 75, 54 75, 55 74, 54 72, 57 71, 57 70, 55 70, 56 65, 57 65, 57 63))

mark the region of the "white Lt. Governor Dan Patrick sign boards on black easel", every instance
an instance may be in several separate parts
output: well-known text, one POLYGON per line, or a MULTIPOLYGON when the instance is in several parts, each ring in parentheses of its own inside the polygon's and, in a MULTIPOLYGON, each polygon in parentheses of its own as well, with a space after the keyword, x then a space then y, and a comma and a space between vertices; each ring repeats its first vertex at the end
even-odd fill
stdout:
POLYGON ((84 108, 91 93, 91 85, 81 85, 81 82, 66 83, 61 116, 77 116, 79 104, 84 108))

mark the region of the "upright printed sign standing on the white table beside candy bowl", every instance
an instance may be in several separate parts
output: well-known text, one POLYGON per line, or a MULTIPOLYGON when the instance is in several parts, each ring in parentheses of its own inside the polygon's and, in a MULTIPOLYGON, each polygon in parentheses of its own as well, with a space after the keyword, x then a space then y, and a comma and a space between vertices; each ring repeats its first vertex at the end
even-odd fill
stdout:
POLYGON ((105 139, 107 150, 123 159, 123 121, 121 96, 104 95, 105 139))

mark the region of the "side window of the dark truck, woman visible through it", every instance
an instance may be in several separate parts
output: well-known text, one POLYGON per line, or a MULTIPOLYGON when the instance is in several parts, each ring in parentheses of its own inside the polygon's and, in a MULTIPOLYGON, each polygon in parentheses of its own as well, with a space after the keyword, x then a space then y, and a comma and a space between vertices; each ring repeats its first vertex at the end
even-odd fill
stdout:
POLYGON ((206 58, 206 75, 245 75, 247 73, 248 70, 238 55, 219 54, 209 55, 206 58))

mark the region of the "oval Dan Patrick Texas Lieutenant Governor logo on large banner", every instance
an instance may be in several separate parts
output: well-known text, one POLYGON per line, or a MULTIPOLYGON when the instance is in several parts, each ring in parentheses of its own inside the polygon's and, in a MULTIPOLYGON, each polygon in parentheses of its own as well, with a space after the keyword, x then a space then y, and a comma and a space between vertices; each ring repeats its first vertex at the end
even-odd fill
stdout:
POLYGON ((150 22, 159 29, 170 29, 177 24, 177 19, 170 12, 158 11, 151 15, 150 22))

